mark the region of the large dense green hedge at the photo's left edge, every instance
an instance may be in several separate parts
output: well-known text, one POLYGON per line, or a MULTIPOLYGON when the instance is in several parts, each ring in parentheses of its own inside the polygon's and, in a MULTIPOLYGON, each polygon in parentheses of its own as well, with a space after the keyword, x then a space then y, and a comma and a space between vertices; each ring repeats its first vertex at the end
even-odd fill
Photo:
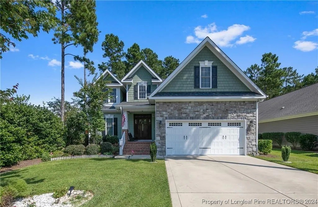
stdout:
POLYGON ((16 97, 1 105, 0 167, 41 157, 44 152, 62 149, 63 123, 46 107, 28 103, 29 97, 16 97))

